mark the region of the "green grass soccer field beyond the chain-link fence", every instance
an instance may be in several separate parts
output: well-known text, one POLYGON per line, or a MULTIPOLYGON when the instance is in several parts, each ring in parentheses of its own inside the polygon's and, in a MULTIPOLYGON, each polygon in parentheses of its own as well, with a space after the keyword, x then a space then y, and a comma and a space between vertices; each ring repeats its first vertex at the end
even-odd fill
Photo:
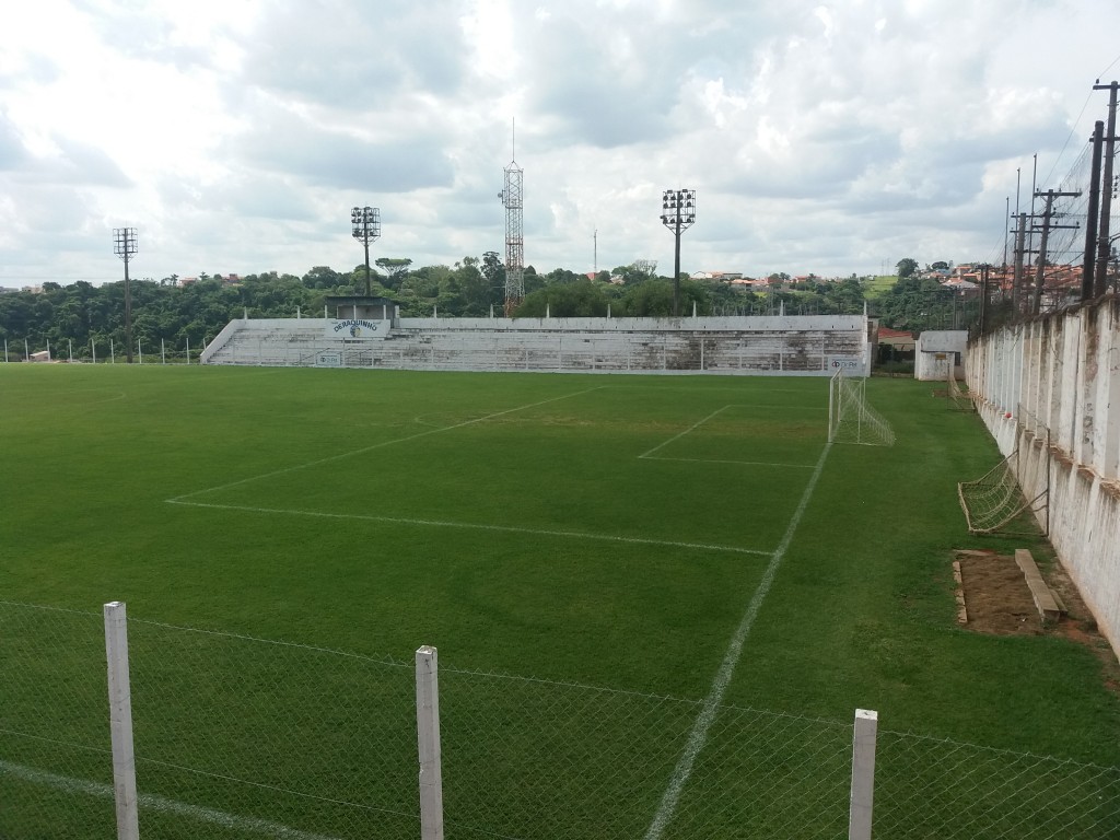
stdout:
POLYGON ((1091 652, 955 625, 998 454, 930 391, 870 381, 867 447, 824 379, 0 365, 0 599, 687 701, 635 824, 706 708, 1120 763, 1091 652))

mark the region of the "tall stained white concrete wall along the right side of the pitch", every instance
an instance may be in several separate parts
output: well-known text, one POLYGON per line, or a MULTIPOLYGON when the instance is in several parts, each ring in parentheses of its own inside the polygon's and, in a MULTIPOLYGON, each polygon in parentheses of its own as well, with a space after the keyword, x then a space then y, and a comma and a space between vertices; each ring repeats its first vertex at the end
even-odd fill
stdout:
POLYGON ((1051 542, 1120 653, 1120 300, 978 338, 968 383, 1025 495, 1048 480, 1051 542))

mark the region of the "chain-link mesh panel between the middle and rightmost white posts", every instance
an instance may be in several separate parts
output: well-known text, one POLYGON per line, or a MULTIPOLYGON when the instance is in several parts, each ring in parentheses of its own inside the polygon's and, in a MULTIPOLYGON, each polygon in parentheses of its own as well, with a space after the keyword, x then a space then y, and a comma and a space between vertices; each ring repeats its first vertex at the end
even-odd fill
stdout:
POLYGON ((850 726, 440 669, 448 837, 843 837, 850 726), (756 833, 757 832, 757 833, 756 833))

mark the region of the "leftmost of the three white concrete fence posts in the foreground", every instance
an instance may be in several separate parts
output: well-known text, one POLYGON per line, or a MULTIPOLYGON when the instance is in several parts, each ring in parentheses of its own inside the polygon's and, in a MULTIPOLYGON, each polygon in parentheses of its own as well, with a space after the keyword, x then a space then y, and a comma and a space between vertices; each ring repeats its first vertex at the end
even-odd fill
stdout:
POLYGON ((132 692, 129 689, 129 629, 123 601, 104 606, 109 665, 109 726, 113 745, 113 795, 118 840, 139 840, 137 763, 132 749, 132 692))

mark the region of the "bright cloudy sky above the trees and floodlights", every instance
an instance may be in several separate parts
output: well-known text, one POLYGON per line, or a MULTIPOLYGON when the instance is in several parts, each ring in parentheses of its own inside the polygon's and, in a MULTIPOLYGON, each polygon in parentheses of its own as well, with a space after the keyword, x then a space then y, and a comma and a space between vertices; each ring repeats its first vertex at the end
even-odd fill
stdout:
POLYGON ((0 286, 119 279, 122 226, 133 277, 348 270, 354 205, 372 259, 504 255, 514 158, 541 272, 670 273, 672 187, 684 271, 991 259, 1118 32, 1112 0, 6 0, 0 286))

